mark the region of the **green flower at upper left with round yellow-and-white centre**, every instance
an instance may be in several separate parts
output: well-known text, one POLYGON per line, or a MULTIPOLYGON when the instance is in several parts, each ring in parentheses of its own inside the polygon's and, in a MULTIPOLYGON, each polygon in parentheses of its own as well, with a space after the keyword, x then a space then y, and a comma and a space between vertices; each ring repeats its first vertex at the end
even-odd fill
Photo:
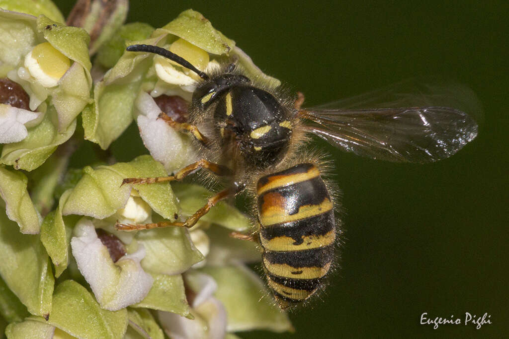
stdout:
POLYGON ((2 9, 0 35, 0 79, 20 85, 16 95, 28 98, 23 109, 0 106, 6 143, 0 163, 30 171, 72 136, 76 117, 91 102, 90 38, 44 15, 2 9))

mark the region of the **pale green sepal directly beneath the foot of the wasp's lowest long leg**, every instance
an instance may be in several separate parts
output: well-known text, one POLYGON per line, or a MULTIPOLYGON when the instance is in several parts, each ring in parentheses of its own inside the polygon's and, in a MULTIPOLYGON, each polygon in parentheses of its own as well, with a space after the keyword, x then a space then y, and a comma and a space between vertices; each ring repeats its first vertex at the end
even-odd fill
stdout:
POLYGON ((204 259, 189 238, 187 229, 166 227, 136 233, 147 255, 142 267, 153 274, 178 274, 204 259))

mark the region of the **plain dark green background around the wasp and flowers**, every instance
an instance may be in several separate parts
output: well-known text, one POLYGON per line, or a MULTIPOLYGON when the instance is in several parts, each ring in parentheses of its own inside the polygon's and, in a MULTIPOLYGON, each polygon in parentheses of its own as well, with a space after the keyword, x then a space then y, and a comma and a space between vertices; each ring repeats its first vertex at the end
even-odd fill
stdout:
MULTIPOLYGON (((155 27, 200 11, 266 73, 318 105, 414 76, 467 84, 485 107, 479 136, 429 165, 335 159, 345 210, 341 269, 291 314, 295 334, 242 337, 502 337, 507 287, 506 2, 132 1, 155 27), (493 324, 419 325, 420 315, 491 315, 493 324)), ((67 14, 71 2, 62 5, 67 14)))

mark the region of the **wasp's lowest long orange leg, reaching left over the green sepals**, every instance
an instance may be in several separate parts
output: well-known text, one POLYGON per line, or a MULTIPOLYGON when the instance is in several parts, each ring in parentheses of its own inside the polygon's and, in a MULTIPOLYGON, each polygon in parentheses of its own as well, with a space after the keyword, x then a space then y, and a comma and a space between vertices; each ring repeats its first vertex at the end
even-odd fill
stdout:
MULTIPOLYGON (((242 187, 243 188, 243 187, 242 187)), ((199 220, 202 218, 207 212, 210 210, 212 206, 215 206, 219 201, 228 198, 230 196, 236 195, 239 192, 239 189, 241 189, 239 186, 233 186, 231 188, 222 190, 221 192, 217 193, 216 195, 210 197, 207 200, 207 203, 194 212, 193 215, 191 215, 189 218, 186 219, 184 222, 161 222, 161 223, 153 223, 153 224, 115 224, 115 228, 122 231, 137 231, 137 230, 147 230, 152 228, 160 228, 160 227, 168 227, 168 226, 177 226, 177 227, 193 227, 199 220)))

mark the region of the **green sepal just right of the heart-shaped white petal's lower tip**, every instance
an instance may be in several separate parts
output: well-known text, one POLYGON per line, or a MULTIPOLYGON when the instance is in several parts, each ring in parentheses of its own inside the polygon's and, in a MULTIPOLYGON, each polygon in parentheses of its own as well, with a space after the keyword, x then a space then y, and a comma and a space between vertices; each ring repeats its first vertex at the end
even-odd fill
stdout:
POLYGON ((187 317, 189 304, 184 291, 182 275, 152 274, 152 278, 154 278, 154 283, 149 294, 131 307, 145 307, 187 317))

